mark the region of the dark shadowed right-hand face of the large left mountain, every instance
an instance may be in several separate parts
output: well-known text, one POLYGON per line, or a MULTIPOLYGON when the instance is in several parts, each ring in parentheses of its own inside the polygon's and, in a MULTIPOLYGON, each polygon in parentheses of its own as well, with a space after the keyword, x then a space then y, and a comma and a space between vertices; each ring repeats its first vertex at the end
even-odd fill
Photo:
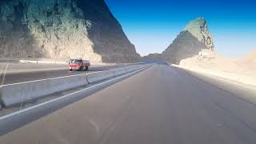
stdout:
POLYGON ((90 22, 89 38, 94 50, 107 62, 134 62, 140 56, 116 18, 102 0, 78 0, 78 6, 90 22))

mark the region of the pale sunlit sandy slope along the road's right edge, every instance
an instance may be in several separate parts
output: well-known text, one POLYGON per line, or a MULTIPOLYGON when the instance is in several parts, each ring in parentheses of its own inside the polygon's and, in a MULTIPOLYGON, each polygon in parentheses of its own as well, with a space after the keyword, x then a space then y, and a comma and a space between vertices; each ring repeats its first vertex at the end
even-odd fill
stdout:
POLYGON ((213 52, 210 58, 195 56, 180 62, 180 66, 256 86, 256 50, 242 58, 225 58, 213 52))

